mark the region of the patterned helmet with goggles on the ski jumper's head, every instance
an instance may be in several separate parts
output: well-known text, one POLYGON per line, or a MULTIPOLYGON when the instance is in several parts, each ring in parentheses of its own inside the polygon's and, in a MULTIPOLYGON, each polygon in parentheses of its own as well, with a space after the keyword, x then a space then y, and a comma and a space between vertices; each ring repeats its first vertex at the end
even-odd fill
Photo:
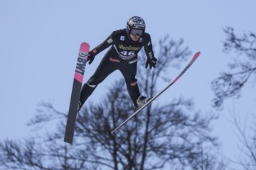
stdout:
POLYGON ((139 16, 133 16, 132 18, 129 18, 127 21, 127 34, 132 34, 132 35, 143 35, 145 32, 145 22, 144 20, 139 17, 139 16))

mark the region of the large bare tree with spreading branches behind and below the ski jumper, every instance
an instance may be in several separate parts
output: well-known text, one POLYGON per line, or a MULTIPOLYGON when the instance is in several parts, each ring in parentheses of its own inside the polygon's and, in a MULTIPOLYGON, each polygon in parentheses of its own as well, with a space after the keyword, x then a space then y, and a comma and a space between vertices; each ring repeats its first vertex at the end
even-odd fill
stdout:
MULTIPOLYGON (((156 69, 146 70, 144 53, 139 56, 138 82, 143 94, 153 96, 159 80, 169 81, 169 67, 178 67, 191 54, 182 46, 183 40, 175 42, 167 36, 160 40, 156 69)), ((112 134, 111 130, 134 113, 134 108, 123 79, 114 82, 108 91, 102 101, 85 106, 78 114, 73 145, 63 142, 67 115, 51 103, 42 103, 30 125, 45 125, 57 119, 58 130, 36 137, 33 145, 1 142, 0 168, 220 169, 218 157, 213 154, 218 144, 210 135, 215 115, 193 111, 190 100, 168 98, 164 105, 154 101, 112 134), (29 157, 32 153, 36 159, 29 157)))

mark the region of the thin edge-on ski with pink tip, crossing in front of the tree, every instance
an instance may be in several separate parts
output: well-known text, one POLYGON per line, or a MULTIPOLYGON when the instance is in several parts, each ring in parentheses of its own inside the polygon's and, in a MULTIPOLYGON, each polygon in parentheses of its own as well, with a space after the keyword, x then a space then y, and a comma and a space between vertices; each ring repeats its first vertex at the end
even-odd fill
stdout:
POLYGON ((137 111, 135 111, 132 115, 129 116, 129 118, 127 118, 127 120, 124 120, 124 122, 117 126, 117 128, 115 128, 114 130, 112 130, 112 133, 114 133, 115 131, 117 131, 119 128, 121 128, 125 123, 127 123, 129 120, 131 120, 134 115, 137 115, 137 113, 139 113, 140 111, 142 111, 143 108, 146 108, 146 106, 148 106, 152 101, 154 101, 156 98, 158 98, 161 94, 164 93, 164 91, 166 91, 167 89, 169 89, 170 86, 172 86, 187 70, 189 67, 191 67, 191 65, 193 64, 193 62, 196 61, 196 59, 199 57, 199 55, 201 54, 201 52, 196 52, 196 54, 193 56, 191 62, 188 63, 188 65, 183 69, 183 71, 178 74, 178 77, 176 77, 176 79, 174 79, 174 81, 171 81, 170 84, 168 84, 168 86, 166 86, 163 90, 161 90, 158 94, 156 94, 154 97, 152 97, 149 101, 147 101, 141 108, 139 108, 137 111))

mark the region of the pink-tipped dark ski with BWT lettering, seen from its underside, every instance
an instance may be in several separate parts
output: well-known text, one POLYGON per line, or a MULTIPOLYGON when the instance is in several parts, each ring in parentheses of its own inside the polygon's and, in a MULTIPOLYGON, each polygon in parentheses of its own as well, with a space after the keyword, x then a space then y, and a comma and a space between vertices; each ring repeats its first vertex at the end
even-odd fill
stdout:
POLYGON ((80 91, 82 87, 82 79, 85 74, 85 65, 87 62, 87 55, 90 45, 82 42, 78 53, 78 62, 75 67, 75 77, 73 81, 73 89, 70 98, 70 107, 68 111, 68 120, 65 128, 64 142, 73 144, 73 137, 75 132, 75 119, 78 114, 78 101, 80 98, 80 91))

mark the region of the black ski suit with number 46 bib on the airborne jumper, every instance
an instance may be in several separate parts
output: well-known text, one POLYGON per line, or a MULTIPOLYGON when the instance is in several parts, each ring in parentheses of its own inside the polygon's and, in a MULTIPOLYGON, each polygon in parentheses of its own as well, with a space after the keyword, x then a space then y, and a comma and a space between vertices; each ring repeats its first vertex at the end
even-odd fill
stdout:
POLYGON ((135 78, 137 73, 137 54, 144 47, 148 59, 154 57, 149 33, 144 33, 139 40, 133 41, 129 38, 125 29, 116 30, 104 42, 92 49, 91 52, 97 55, 107 47, 110 47, 110 50, 107 51, 92 77, 82 86, 80 94, 81 105, 85 103, 98 84, 118 69, 125 79, 127 91, 132 98, 134 106, 137 106, 137 98, 140 96, 137 79, 135 78))

